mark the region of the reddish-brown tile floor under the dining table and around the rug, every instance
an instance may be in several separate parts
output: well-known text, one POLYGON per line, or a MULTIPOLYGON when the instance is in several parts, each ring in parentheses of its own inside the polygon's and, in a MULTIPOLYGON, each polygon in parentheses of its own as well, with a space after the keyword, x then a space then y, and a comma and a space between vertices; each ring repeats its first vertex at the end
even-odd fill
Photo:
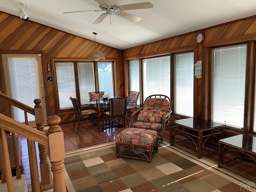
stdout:
MULTIPOLYGON (((64 132, 65 152, 70 152, 72 150, 77 150, 85 147, 96 146, 99 144, 113 142, 116 140, 116 135, 125 129, 125 128, 113 128, 113 136, 111 137, 109 129, 99 132, 97 129, 97 126, 92 126, 90 124, 90 120, 81 122, 79 134, 77 134, 77 126, 78 124, 76 124, 75 129, 73 130, 73 124, 61 125, 61 128, 64 132)), ((162 136, 166 142, 170 142, 170 133, 168 131, 165 131, 162 134, 162 136)), ((28 189, 31 189, 26 139, 22 138, 21 143, 22 143, 22 174, 25 174, 25 177, 28 181, 28 189)), ((190 142, 182 142, 181 144, 183 147, 188 148, 188 150, 194 150, 193 144, 190 142)), ((206 149, 206 151, 209 151, 209 149, 206 149)), ((218 153, 215 152, 213 154, 207 155, 206 157, 217 162, 218 153)), ((230 166, 235 170, 238 170, 244 174, 247 174, 248 176, 252 176, 253 178, 256 177, 255 162, 235 160, 232 163, 230 163, 230 166)), ((40 173, 39 173, 39 176, 40 176, 40 173)))

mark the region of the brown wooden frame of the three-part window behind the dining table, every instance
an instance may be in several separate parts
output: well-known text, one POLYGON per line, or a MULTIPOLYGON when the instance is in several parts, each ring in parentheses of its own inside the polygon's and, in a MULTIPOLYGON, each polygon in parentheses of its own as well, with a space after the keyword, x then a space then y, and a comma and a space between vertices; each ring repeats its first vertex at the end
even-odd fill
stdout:
POLYGON ((94 68, 94 83, 95 83, 95 91, 98 92, 99 90, 99 80, 98 80, 98 62, 111 62, 112 63, 112 84, 113 84, 113 92, 114 95, 116 94, 116 89, 115 89, 115 63, 116 60, 111 60, 111 59, 106 59, 106 60, 99 60, 99 61, 92 61, 92 60, 87 60, 84 58, 51 58, 51 67, 52 67, 52 83, 53 83, 53 91, 54 91, 54 101, 55 101, 55 109, 56 109, 56 114, 67 114, 67 113, 72 113, 73 112, 73 107, 72 108, 67 108, 67 109, 60 109, 59 106, 59 98, 58 98, 58 87, 57 87, 57 76, 56 76, 56 68, 55 68, 55 63, 56 62, 70 62, 74 63, 74 81, 75 81, 75 92, 76 92, 76 98, 78 100, 78 103, 80 104, 80 90, 79 90, 79 81, 78 81, 78 64, 81 62, 85 63, 93 63, 93 68, 94 68), (72 110, 72 111, 70 111, 72 110))

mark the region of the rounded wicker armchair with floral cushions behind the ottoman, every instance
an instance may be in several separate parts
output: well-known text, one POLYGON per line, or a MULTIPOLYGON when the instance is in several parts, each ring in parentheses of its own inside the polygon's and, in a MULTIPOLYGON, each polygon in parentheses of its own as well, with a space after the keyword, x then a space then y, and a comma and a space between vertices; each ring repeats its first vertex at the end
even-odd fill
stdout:
POLYGON ((130 127, 155 130, 158 143, 163 142, 162 132, 170 123, 171 100, 166 95, 150 95, 139 110, 132 113, 130 127))

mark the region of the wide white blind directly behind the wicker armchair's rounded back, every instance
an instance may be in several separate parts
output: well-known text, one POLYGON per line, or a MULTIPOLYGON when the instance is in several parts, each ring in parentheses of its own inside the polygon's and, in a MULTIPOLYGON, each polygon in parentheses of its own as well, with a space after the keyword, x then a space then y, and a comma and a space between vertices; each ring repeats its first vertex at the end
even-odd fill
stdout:
POLYGON ((148 58, 143 61, 144 100, 153 94, 170 97, 170 56, 148 58))

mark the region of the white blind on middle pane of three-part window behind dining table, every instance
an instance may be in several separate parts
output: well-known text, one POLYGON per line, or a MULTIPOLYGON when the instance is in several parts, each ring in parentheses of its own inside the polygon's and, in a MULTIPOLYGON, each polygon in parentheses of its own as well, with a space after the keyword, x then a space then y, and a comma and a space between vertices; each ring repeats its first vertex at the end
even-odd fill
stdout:
POLYGON ((89 92, 95 91, 93 62, 78 62, 77 66, 81 104, 86 104, 82 99, 89 98, 89 92))

